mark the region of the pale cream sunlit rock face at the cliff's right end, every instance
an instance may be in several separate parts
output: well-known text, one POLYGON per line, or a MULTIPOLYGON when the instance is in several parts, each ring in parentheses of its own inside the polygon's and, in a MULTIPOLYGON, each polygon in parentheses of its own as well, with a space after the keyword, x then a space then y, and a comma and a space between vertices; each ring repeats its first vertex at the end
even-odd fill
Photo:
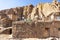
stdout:
POLYGON ((54 14, 56 12, 60 12, 59 6, 60 4, 57 2, 53 3, 40 3, 36 7, 33 8, 33 11, 31 13, 31 19, 37 19, 36 16, 39 17, 39 19, 42 19, 43 21, 52 21, 54 20, 54 14), (38 13, 36 10, 38 9, 38 13), (38 15, 35 15, 38 14, 38 15), (35 16, 34 16, 35 15, 35 16))

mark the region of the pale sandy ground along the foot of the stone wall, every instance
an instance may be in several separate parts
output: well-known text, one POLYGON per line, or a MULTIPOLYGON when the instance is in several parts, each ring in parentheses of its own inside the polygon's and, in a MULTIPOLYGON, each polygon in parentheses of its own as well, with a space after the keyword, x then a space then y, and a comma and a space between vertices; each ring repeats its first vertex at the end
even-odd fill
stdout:
MULTIPOLYGON (((23 38, 23 39, 12 39, 12 35, 0 34, 0 40, 51 40, 52 37, 46 39, 39 39, 39 38, 23 38)), ((56 38, 56 40, 60 40, 56 38)))

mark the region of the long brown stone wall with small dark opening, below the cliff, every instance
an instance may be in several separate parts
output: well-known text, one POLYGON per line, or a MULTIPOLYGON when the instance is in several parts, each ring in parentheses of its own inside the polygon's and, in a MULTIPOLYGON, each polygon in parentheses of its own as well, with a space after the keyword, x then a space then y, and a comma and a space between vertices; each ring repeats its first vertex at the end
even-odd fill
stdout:
POLYGON ((60 21, 54 22, 19 22, 13 25, 13 38, 59 37, 60 21))

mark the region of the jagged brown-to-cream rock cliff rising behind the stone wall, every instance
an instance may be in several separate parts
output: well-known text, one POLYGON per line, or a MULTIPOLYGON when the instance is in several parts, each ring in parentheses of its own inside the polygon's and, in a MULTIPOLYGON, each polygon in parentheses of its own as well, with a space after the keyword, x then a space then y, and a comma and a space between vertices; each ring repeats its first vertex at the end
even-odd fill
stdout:
POLYGON ((22 20, 23 17, 31 20, 52 21, 55 12, 60 12, 60 2, 40 3, 37 6, 28 5, 0 11, 13 21, 22 20))

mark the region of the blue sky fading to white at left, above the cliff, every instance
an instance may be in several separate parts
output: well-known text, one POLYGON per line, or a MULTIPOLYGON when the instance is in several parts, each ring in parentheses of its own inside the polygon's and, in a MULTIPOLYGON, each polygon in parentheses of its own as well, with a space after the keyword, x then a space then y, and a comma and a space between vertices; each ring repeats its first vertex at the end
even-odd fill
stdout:
POLYGON ((0 10, 26 6, 29 4, 33 4, 35 6, 41 2, 52 2, 52 0, 0 0, 0 10))

